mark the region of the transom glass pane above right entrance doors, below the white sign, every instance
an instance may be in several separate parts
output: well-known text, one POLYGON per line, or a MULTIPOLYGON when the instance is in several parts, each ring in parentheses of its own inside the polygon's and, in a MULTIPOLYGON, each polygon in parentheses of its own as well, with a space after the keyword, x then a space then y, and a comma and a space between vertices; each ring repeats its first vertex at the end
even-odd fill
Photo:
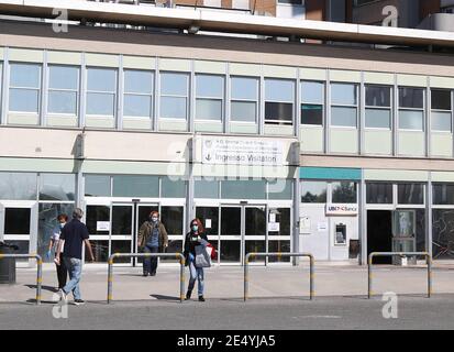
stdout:
POLYGON ((224 199, 266 199, 266 182, 222 180, 221 197, 224 199))

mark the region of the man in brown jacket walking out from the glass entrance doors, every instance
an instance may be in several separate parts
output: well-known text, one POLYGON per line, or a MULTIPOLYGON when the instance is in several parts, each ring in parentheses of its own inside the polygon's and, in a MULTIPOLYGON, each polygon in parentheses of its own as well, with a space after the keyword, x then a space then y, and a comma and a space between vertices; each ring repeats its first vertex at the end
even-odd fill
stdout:
MULTIPOLYGON (((148 220, 139 230, 139 246, 144 253, 163 253, 168 246, 168 235, 164 223, 159 221, 159 213, 152 211, 148 220)), ((146 257, 143 262, 143 276, 155 276, 157 257, 146 257)))

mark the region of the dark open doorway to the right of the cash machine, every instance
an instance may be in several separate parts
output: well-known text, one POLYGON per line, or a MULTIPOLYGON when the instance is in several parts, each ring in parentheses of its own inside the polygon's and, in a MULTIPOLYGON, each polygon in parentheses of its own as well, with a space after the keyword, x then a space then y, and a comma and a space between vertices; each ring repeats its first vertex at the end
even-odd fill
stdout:
MULTIPOLYGON (((372 252, 392 252, 392 211, 367 211, 367 255, 372 252)), ((375 264, 391 264, 390 257, 376 257, 375 264)))

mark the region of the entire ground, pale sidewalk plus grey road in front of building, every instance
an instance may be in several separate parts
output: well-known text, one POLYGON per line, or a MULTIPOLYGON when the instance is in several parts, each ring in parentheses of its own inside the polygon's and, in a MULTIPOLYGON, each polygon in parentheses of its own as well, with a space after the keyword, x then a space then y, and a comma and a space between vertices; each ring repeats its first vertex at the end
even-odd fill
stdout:
MULTIPOLYGON (((309 267, 252 266, 250 299, 243 301, 243 268, 206 271, 206 302, 179 301, 179 267, 160 265, 157 276, 140 267, 114 267, 113 301, 107 299, 107 266, 85 266, 87 304, 68 306, 55 319, 56 273, 43 271, 43 302, 34 305, 36 272, 18 268, 15 285, 0 285, 0 329, 454 329, 454 266, 434 265, 427 298, 424 266, 375 266, 375 297, 367 299, 367 267, 315 264, 315 299, 309 300, 309 267), (398 319, 385 319, 384 293, 398 297, 398 319)), ((186 274, 186 285, 188 272, 186 274)), ((186 286, 185 286, 186 287, 186 286)), ((195 295, 197 297, 197 295, 195 295)), ((193 297, 193 298, 196 298, 193 297)), ((71 301, 71 298, 69 299, 71 301)))

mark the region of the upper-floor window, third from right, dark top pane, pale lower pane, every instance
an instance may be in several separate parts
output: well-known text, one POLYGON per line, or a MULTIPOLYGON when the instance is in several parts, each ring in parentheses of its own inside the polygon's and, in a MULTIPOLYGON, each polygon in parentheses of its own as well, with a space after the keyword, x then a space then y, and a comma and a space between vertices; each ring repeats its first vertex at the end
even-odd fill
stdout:
POLYGON ((368 129, 391 129, 391 87, 366 85, 368 129))

